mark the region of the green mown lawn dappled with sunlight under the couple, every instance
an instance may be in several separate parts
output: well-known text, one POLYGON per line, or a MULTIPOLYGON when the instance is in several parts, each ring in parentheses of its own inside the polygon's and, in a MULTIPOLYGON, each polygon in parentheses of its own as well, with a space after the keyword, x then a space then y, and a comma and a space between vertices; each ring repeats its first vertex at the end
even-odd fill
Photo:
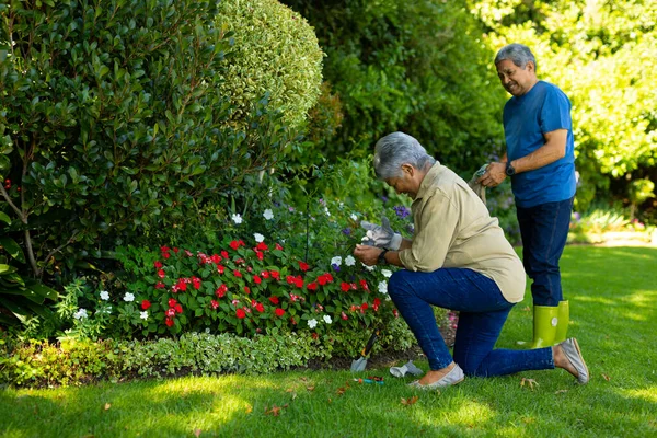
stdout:
MULTIPOLYGON (((348 371, 182 378, 0 392, 2 437, 657 437, 657 249, 568 246, 562 258, 569 334, 592 376, 563 370, 466 379, 414 392, 348 371), (520 385, 533 379, 533 390, 520 385), (346 384, 349 384, 347 388, 346 384), (404 404, 417 395, 413 404, 404 404), (274 406, 284 406, 274 415, 274 406), (269 412, 267 414, 267 412, 269 412)), ((498 347, 529 338, 528 298, 498 347)), ((419 362, 426 369, 426 362, 419 362)))

